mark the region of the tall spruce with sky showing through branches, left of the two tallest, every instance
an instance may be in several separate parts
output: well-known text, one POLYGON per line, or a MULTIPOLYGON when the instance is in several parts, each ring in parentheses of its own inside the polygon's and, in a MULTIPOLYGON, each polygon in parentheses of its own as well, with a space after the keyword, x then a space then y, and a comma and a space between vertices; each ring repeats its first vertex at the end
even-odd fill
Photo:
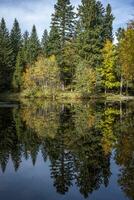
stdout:
POLYGON ((65 86, 70 82, 70 80, 67 81, 69 75, 66 72, 72 66, 66 64, 63 54, 66 43, 73 42, 75 35, 75 13, 70 0, 58 0, 54 9, 48 46, 50 55, 56 55, 60 66, 61 81, 63 86, 65 86))

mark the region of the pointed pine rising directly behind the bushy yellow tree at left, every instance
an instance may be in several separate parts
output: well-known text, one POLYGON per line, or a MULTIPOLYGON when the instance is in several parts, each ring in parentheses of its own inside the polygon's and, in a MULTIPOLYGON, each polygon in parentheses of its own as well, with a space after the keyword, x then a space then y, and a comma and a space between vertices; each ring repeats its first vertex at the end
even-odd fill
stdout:
POLYGON ((38 39, 35 25, 33 25, 33 28, 32 28, 31 36, 29 38, 28 48, 29 48, 28 49, 28 54, 29 54, 28 63, 31 65, 37 60, 41 52, 40 42, 38 39))

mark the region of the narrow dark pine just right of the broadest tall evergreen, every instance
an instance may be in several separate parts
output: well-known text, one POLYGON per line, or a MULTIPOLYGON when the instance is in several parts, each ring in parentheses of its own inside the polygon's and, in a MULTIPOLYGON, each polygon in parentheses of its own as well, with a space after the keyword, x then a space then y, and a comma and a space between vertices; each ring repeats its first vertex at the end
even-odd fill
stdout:
POLYGON ((111 5, 108 4, 106 7, 106 14, 104 19, 104 39, 113 41, 113 20, 114 16, 112 14, 111 5))

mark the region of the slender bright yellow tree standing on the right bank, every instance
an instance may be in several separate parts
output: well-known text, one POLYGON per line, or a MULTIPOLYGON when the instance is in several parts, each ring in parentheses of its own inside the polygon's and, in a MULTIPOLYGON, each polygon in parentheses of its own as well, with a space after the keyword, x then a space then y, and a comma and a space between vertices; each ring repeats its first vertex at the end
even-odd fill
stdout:
POLYGON ((116 51, 115 47, 109 40, 102 50, 103 62, 102 66, 98 68, 98 72, 101 77, 101 84, 105 88, 105 93, 107 89, 117 88, 119 82, 116 77, 116 51))

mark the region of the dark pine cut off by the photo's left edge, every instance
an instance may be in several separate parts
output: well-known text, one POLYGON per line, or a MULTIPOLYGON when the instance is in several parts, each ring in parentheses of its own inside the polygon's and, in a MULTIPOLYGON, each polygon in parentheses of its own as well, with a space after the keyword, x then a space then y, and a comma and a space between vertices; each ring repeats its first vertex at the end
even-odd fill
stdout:
POLYGON ((13 73, 13 51, 5 20, 0 23, 0 90, 10 89, 13 73))

